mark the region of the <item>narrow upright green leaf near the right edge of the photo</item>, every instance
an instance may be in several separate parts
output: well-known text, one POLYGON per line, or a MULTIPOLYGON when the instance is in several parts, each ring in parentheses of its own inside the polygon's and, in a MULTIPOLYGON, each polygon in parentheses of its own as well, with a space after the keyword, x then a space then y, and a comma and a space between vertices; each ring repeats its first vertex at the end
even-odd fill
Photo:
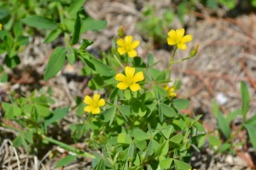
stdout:
POLYGON ((249 95, 246 82, 241 82, 241 102, 242 102, 241 115, 245 120, 247 116, 247 112, 249 111, 249 105, 250 105, 250 95, 249 95))

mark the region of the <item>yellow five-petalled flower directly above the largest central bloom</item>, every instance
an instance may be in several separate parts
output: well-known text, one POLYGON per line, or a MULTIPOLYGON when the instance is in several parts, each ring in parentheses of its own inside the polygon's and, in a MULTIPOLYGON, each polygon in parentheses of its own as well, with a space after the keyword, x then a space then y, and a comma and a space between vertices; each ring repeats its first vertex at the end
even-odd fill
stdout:
POLYGON ((118 52, 119 54, 128 54, 129 57, 133 58, 137 56, 137 51, 135 48, 140 44, 139 41, 132 42, 133 37, 132 36, 126 36, 125 40, 122 38, 119 38, 116 42, 119 45, 118 52))

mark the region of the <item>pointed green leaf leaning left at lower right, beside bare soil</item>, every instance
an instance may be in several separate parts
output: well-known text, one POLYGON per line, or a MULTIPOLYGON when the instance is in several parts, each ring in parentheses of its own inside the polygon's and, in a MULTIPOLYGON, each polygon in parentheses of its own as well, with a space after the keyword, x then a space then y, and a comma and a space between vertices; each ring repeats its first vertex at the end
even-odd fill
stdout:
POLYGON ((219 129, 221 130, 222 133, 224 133, 225 138, 228 139, 230 137, 230 133, 231 133, 230 125, 229 125, 229 122, 226 120, 226 118, 220 111, 218 111, 217 120, 218 120, 219 129))

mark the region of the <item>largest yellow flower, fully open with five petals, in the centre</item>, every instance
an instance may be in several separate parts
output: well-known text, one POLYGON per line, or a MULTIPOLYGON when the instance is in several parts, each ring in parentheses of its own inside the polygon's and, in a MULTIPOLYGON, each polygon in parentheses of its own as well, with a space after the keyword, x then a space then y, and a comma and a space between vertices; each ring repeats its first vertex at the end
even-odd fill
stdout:
POLYGON ((131 68, 130 66, 125 67, 125 75, 119 73, 117 74, 114 78, 117 81, 120 81, 117 84, 117 88, 121 90, 125 90, 126 88, 130 88, 132 92, 136 92, 139 90, 141 87, 138 85, 136 82, 140 82, 144 80, 144 75, 142 71, 137 72, 135 74, 135 68, 131 68))

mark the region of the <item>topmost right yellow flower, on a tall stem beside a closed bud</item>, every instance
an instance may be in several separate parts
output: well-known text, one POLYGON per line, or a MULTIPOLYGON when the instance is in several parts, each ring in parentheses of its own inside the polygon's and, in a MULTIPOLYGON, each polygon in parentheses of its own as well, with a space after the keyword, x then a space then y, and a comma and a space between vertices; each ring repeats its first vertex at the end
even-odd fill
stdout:
POLYGON ((187 45, 185 42, 192 41, 191 35, 184 36, 185 30, 179 29, 179 30, 171 30, 168 32, 167 42, 169 45, 177 45, 177 48, 179 49, 186 49, 187 45))

